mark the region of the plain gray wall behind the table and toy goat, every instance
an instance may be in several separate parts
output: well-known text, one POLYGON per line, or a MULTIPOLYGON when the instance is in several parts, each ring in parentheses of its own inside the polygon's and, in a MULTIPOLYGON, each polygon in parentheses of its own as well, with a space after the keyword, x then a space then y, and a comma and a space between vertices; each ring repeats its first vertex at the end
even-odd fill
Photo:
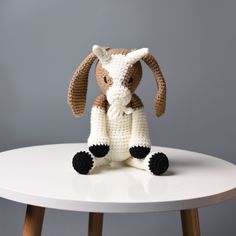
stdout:
MULTIPOLYGON (((91 73, 87 113, 75 119, 68 83, 93 44, 149 47, 168 84, 166 115, 154 117, 155 83, 144 67, 143 98, 153 144, 236 163, 236 2, 220 0, 1 0, 0 151, 82 142, 98 89, 91 73)), ((11 171, 11 170, 9 170, 11 171)), ((0 235, 20 235, 25 205, 0 199, 0 235)), ((85 235, 86 213, 48 210, 43 235, 85 235)), ((235 235, 236 202, 200 209, 203 235, 235 235)), ((107 214, 104 236, 181 235, 178 212, 107 214)))

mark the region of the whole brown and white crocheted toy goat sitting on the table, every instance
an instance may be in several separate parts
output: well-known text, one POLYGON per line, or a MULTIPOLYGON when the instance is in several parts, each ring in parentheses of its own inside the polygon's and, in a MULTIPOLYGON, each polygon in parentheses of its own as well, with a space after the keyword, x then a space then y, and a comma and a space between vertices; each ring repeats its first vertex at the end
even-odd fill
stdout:
POLYGON ((87 174, 97 166, 117 166, 125 162, 154 175, 164 173, 169 167, 168 158, 164 153, 150 153, 147 119, 142 101, 134 93, 142 78, 142 59, 152 70, 158 86, 155 113, 158 117, 164 113, 166 83, 157 61, 148 48, 93 46, 92 53, 79 65, 69 86, 68 103, 76 117, 84 114, 89 70, 96 59, 96 81, 101 93, 91 111, 89 152, 81 151, 73 157, 74 169, 87 174))

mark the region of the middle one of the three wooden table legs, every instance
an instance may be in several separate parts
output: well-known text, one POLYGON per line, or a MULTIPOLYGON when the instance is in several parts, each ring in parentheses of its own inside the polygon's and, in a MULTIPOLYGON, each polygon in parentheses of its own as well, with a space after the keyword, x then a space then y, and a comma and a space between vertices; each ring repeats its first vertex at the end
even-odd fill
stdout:
POLYGON ((102 236, 103 213, 89 213, 88 236, 102 236))

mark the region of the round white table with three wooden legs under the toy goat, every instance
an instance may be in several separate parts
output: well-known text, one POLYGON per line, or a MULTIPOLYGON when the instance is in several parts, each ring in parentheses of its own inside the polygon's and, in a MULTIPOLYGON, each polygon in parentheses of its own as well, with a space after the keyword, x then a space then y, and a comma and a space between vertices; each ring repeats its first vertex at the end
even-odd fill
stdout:
POLYGON ((0 197, 26 203, 24 236, 41 234, 45 208, 90 212, 89 235, 102 234, 105 212, 181 211, 184 235, 200 235, 197 208, 236 196, 236 167, 191 151, 152 147, 170 161, 154 176, 132 167, 72 168, 86 144, 55 144, 0 153, 0 197))

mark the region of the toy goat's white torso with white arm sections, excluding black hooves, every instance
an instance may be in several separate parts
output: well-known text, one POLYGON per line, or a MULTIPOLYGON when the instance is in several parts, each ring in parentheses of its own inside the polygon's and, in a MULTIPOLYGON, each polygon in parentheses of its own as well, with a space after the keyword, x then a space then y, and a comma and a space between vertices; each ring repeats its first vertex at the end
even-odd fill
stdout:
POLYGON ((109 153, 104 158, 114 162, 127 160, 130 147, 151 147, 144 109, 114 119, 104 109, 93 107, 88 146, 101 144, 109 145, 109 153))

